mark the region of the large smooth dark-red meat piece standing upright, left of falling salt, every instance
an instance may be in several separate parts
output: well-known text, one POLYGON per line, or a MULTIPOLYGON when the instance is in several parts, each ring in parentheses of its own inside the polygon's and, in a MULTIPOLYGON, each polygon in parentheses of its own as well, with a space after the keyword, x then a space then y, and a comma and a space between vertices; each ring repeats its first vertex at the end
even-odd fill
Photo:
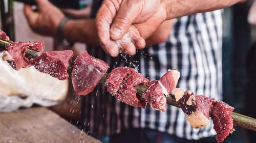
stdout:
POLYGON ((75 92, 78 95, 91 93, 107 70, 108 64, 89 55, 87 51, 77 56, 72 71, 75 92))

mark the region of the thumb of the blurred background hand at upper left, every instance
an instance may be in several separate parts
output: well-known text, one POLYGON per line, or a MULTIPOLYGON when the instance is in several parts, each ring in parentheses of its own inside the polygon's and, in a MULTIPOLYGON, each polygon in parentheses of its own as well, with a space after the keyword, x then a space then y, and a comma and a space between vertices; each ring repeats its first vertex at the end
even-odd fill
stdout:
POLYGON ((38 13, 34 12, 31 8, 31 6, 29 6, 29 5, 24 6, 24 13, 25 13, 25 16, 26 16, 29 24, 33 25, 38 18, 38 13))

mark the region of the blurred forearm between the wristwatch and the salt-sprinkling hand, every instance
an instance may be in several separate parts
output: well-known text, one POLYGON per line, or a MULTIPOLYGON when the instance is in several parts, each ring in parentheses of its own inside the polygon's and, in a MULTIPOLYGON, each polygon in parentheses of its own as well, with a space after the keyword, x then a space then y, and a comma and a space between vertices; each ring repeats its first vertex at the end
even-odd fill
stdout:
POLYGON ((69 20, 63 27, 63 37, 74 42, 99 45, 94 19, 69 20))

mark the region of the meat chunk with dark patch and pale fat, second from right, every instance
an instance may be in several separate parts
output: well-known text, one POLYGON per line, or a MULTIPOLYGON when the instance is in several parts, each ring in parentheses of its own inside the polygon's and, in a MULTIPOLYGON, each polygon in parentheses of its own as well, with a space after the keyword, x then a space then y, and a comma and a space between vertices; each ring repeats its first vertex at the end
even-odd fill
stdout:
POLYGON ((194 95, 193 92, 186 91, 179 100, 179 105, 185 113, 185 118, 195 129, 199 129, 209 124, 209 111, 212 99, 203 95, 194 95))

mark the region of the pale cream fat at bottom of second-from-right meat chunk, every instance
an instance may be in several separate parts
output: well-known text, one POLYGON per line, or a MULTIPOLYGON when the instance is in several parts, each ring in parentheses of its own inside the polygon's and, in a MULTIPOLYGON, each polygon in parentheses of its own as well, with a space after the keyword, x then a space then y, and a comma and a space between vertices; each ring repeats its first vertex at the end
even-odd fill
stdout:
POLYGON ((195 129, 199 129, 209 124, 209 119, 203 115, 200 109, 197 109, 196 112, 193 112, 190 115, 185 114, 185 118, 195 129))

